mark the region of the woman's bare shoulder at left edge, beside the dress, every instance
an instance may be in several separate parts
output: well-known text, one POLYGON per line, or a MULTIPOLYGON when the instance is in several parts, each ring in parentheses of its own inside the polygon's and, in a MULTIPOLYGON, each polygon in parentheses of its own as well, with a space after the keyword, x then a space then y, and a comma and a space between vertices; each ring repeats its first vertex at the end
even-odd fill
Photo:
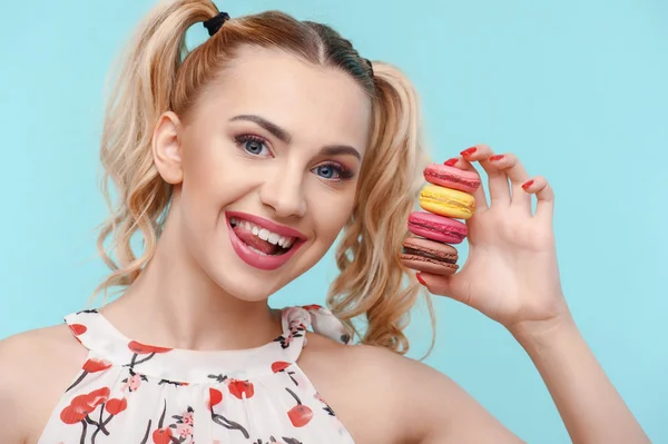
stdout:
POLYGON ((37 441, 86 355, 65 324, 0 341, 0 430, 10 434, 3 443, 37 441))

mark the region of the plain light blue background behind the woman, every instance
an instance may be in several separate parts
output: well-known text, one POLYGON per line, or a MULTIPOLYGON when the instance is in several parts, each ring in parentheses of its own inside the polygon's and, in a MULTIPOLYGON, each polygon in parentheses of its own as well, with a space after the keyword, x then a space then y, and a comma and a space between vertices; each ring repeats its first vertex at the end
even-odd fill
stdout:
MULTIPOLYGON (((95 226, 102 82, 149 0, 2 0, 0 337, 60 322, 106 273, 95 226)), ((219 3, 220 4, 220 3, 219 3)), ((668 443, 666 172, 668 3, 245 0, 322 20, 421 91, 438 159, 478 142, 514 151, 557 193, 563 283, 580 328, 656 443, 668 443)), ((202 38, 203 31, 194 32, 202 38)), ((322 303, 332 256, 273 305, 322 303)), ((530 443, 567 443, 524 352, 493 322, 439 298, 445 372, 530 443)), ((420 357, 424 312, 410 334, 420 357)))

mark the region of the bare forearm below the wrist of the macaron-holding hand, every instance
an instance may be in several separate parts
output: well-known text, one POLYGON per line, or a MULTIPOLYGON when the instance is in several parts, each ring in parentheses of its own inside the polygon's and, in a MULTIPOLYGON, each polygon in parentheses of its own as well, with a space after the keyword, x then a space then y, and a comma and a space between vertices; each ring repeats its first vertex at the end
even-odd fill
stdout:
POLYGON ((650 443, 572 318, 512 333, 536 364, 573 443, 650 443))

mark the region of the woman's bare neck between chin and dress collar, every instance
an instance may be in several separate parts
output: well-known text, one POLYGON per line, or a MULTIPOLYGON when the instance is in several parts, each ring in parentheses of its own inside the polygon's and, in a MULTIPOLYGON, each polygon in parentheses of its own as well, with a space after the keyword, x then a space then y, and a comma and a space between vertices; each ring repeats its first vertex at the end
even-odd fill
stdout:
POLYGON ((282 333, 266 299, 227 294, 167 229, 137 280, 100 313, 127 337, 171 348, 253 348, 282 333))

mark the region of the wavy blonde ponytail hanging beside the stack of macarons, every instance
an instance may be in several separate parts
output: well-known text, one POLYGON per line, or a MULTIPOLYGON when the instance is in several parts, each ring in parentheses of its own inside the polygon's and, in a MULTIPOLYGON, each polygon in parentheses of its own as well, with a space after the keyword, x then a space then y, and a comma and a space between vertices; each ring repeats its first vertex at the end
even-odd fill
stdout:
MULTIPOLYGON (((374 62, 373 69, 376 98, 370 155, 361 171, 357 204, 336 250, 341 274, 327 303, 363 344, 405 354, 409 341, 403 329, 421 288, 401 264, 401 251, 429 157, 416 91, 399 69, 382 62, 374 62), (364 334, 352 323, 357 316, 366 317, 364 334)), ((433 332, 429 354, 435 338, 429 296, 426 305, 433 332)))

